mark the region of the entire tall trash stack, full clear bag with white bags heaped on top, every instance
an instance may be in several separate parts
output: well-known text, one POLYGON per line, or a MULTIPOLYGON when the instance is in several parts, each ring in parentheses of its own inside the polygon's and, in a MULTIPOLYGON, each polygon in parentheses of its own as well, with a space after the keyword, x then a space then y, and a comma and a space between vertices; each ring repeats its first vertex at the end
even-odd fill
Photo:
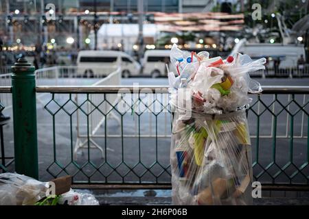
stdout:
POLYGON ((237 53, 209 57, 207 51, 170 52, 176 75, 168 73, 174 110, 171 166, 176 205, 250 205, 251 143, 245 109, 248 92, 261 92, 249 72, 263 70, 237 53), (190 112, 190 114, 187 114, 190 112), (190 115, 190 116, 188 116, 190 115))

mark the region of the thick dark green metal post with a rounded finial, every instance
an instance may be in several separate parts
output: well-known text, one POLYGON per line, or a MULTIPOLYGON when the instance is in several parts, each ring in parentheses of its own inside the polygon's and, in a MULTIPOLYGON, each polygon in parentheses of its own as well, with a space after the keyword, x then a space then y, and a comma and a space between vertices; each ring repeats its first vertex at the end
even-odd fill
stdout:
POLYGON ((14 162, 17 173, 38 179, 34 70, 24 57, 12 66, 14 162))

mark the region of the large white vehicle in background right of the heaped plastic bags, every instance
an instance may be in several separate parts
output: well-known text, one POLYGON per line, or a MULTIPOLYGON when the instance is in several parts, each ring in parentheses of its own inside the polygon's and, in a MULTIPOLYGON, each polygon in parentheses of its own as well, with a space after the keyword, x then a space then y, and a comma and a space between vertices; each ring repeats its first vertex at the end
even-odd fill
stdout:
POLYGON ((235 45, 231 55, 236 52, 247 54, 253 60, 266 57, 270 61, 268 68, 273 68, 273 60, 277 59, 280 60, 279 68, 295 68, 299 57, 306 57, 303 44, 249 43, 245 39, 235 45))

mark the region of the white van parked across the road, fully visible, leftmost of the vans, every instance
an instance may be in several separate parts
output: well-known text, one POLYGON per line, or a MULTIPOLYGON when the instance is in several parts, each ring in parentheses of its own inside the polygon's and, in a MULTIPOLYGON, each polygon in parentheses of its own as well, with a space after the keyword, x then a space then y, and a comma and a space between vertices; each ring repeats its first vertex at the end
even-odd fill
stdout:
POLYGON ((141 70, 141 65, 122 51, 80 51, 76 63, 80 76, 106 76, 119 66, 123 77, 139 75, 141 70))

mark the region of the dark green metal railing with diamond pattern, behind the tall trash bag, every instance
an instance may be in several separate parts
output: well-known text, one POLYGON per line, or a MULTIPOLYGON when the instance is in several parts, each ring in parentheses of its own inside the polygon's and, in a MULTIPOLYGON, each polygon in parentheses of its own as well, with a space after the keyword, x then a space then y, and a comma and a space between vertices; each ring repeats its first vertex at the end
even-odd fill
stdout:
MULTIPOLYGON (((308 190, 309 87, 264 86, 263 90, 261 95, 251 94, 247 111, 255 180, 275 190, 308 190)), ((0 93, 10 92, 10 86, 0 87, 0 93)), ((52 177, 72 175, 79 187, 170 188, 172 120, 166 87, 37 86, 36 92, 47 94, 44 110, 38 111, 42 179, 47 171, 52 177), (101 108, 102 104, 107 107, 101 108), (99 116, 95 128, 104 157, 91 150, 94 112, 104 118, 99 116), (119 118, 120 125, 110 114, 119 118), (78 131, 86 133, 87 152, 74 159, 78 131)))

